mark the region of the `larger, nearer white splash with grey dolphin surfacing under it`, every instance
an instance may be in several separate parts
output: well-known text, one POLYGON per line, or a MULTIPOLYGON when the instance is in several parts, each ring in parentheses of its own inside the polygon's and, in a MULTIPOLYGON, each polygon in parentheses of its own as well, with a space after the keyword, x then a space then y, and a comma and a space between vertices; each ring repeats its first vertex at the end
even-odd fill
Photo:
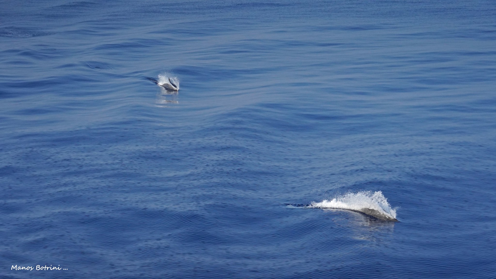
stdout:
POLYGON ((372 191, 362 191, 356 194, 348 193, 344 196, 329 200, 323 200, 320 203, 312 202, 308 208, 321 209, 349 209, 355 211, 364 211, 363 209, 374 209, 380 213, 396 219, 396 209, 392 209, 387 199, 381 191, 372 193, 372 191))

